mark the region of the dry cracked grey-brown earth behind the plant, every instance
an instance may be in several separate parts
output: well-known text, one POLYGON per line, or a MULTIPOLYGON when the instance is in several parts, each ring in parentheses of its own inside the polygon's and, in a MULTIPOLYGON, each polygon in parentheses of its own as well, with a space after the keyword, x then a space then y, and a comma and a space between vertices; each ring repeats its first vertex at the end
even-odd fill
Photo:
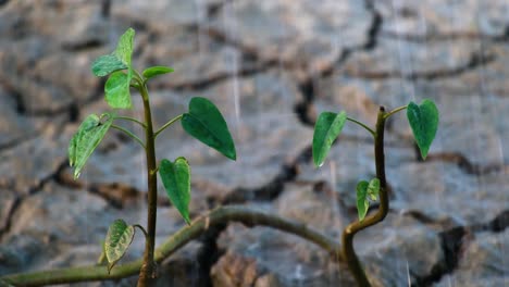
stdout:
MULTIPOLYGON (((193 217, 238 203, 339 238, 357 216, 356 183, 375 173, 372 141, 347 125, 316 170, 316 115, 374 124, 378 104, 432 98, 442 117, 425 162, 405 116, 388 123, 390 211, 356 237, 359 255, 375 286, 508 286, 508 15, 505 0, 0 1, 0 275, 92 264, 113 220, 145 224, 135 142, 109 134, 78 180, 66 155, 79 122, 108 110, 90 62, 133 26, 135 65, 176 70, 149 87, 156 123, 208 97, 236 141, 231 162, 179 126, 158 138, 160 159, 189 160, 193 217)), ((134 100, 127 114, 140 117, 134 100)), ((182 226, 161 192, 157 241, 182 226)), ((142 247, 137 236, 126 260, 142 247)), ((160 271, 161 286, 352 286, 312 244, 238 224, 160 271)))

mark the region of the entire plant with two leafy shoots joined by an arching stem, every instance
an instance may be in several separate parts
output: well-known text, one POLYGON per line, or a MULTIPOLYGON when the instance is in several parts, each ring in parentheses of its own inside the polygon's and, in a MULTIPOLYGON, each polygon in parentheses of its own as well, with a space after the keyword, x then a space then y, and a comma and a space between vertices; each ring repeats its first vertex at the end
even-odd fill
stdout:
POLYGON ((186 113, 175 116, 153 129, 150 98, 147 82, 152 77, 172 73, 166 66, 152 66, 138 73, 132 65, 132 53, 135 32, 129 28, 125 32, 111 54, 102 55, 92 63, 92 73, 96 76, 108 76, 104 85, 105 101, 112 111, 101 115, 91 114, 79 125, 76 134, 69 145, 69 159, 74 167, 74 177, 77 178, 85 167, 88 158, 101 142, 110 128, 119 129, 138 142, 146 152, 147 184, 148 184, 148 214, 147 227, 139 224, 128 224, 123 220, 114 221, 109 227, 105 240, 102 244, 102 254, 98 265, 65 267, 32 273, 18 273, 0 276, 0 286, 41 286, 53 284, 66 284, 88 280, 119 279, 139 273, 138 286, 152 286, 157 275, 156 262, 161 262, 173 252, 184 247, 189 241, 213 226, 224 226, 229 222, 244 223, 246 226, 262 225, 291 233, 306 240, 314 242, 326 250, 334 259, 348 264, 356 280, 360 286, 370 286, 364 271, 353 250, 353 236, 359 230, 372 226, 387 215, 388 197, 385 178, 384 160, 384 126, 387 117, 407 109, 407 117, 412 128, 415 142, 423 159, 426 158, 430 146, 435 137, 438 126, 438 111, 431 100, 424 100, 421 104, 410 102, 390 112, 383 107, 378 111, 374 129, 368 125, 348 117, 345 112, 322 113, 314 128, 312 152, 313 162, 321 166, 325 161, 331 146, 339 136, 347 121, 353 122, 374 138, 376 177, 361 180, 357 185, 357 208, 359 221, 348 225, 343 232, 343 246, 313 228, 301 223, 291 222, 281 216, 250 210, 246 207, 219 207, 203 216, 191 222, 189 215, 190 201, 190 167, 183 157, 174 161, 156 158, 156 138, 165 128, 181 121, 182 127, 190 136, 202 141, 207 146, 218 150, 231 160, 236 159, 235 145, 219 109, 208 99, 193 98, 186 113), (131 90, 137 90, 142 99, 144 121, 129 116, 119 115, 120 110, 132 108, 131 90), (141 140, 131 130, 116 125, 116 121, 131 121, 138 124, 145 130, 145 140, 141 140), (183 227, 154 250, 156 238, 156 211, 157 211, 157 176, 161 176, 164 189, 172 204, 177 209, 188 226, 183 227), (374 214, 368 214, 370 201, 380 200, 378 210, 374 214), (136 229, 140 229, 146 237, 146 246, 142 260, 134 260, 123 265, 115 265, 125 254, 135 236, 136 229), (104 266, 103 263, 107 265, 104 266))

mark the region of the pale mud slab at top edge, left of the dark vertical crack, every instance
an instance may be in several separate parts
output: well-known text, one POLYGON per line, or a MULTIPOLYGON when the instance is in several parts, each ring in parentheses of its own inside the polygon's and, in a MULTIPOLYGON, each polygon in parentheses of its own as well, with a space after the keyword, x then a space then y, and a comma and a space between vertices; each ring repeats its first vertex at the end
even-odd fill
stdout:
POLYGON ((316 72, 331 65, 345 48, 363 45, 370 24, 362 2, 327 2, 319 9, 313 1, 302 0, 227 3, 211 26, 256 50, 261 59, 316 72), (331 37, 338 32, 339 36, 331 37))

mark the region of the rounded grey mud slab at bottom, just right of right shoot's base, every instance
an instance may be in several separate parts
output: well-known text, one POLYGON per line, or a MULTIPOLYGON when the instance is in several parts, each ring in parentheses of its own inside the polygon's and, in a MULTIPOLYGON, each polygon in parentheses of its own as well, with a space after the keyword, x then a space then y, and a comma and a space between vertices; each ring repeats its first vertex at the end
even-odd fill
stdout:
POLYGON ((435 230, 398 214, 359 233, 355 247, 373 286, 414 285, 444 260, 435 230))

